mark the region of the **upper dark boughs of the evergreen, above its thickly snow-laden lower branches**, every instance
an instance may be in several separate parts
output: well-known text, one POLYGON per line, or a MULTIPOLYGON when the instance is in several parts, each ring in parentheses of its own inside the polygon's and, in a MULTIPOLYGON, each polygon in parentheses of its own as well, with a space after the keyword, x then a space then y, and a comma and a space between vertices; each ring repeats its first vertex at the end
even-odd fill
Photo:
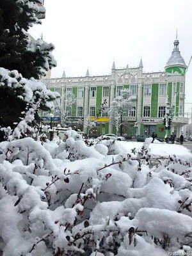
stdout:
POLYGON ((51 51, 53 44, 30 38, 28 29, 40 24, 38 15, 45 9, 37 4, 42 0, 0 1, 0 67, 18 70, 23 77, 36 79, 56 66, 51 51))

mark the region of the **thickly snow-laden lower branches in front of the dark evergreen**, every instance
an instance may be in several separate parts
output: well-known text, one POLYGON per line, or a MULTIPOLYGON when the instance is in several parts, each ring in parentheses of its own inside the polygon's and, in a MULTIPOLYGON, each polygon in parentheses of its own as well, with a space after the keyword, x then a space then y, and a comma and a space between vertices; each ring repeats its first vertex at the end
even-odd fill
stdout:
POLYGON ((0 87, 9 88, 16 97, 26 103, 26 109, 20 113, 20 122, 15 123, 15 127, 3 127, 6 138, 10 141, 15 138, 22 138, 24 134, 30 133, 33 129, 31 125, 35 120, 35 115, 38 115, 40 109, 52 109, 52 100, 60 96, 57 92, 47 90, 45 84, 36 79, 25 79, 17 70, 6 70, 0 68, 0 87))

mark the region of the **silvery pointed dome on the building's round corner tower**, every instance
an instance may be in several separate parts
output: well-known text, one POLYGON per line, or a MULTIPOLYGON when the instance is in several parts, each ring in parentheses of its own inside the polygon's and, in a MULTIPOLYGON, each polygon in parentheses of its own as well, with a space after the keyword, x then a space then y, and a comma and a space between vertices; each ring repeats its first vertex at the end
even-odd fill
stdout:
POLYGON ((170 67, 188 67, 184 61, 184 58, 182 58, 182 56, 180 55, 179 40, 177 39, 174 41, 174 49, 172 51, 172 56, 169 58, 169 60, 166 63, 166 67, 164 68, 167 69, 170 67))

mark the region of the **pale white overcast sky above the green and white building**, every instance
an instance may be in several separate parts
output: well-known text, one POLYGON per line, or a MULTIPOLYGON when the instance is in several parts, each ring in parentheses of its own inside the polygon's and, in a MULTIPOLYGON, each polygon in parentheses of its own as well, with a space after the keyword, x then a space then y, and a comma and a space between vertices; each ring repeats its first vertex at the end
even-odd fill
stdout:
MULTIPOLYGON (((45 0, 46 18, 30 33, 55 45, 58 67, 52 77, 110 74, 136 67, 142 56, 145 72, 164 70, 173 50, 188 65, 192 55, 192 0, 45 0)), ((186 74, 186 102, 192 102, 192 61, 186 74)), ((187 104, 185 111, 191 108, 187 104)), ((190 110, 191 111, 191 110, 190 110)))

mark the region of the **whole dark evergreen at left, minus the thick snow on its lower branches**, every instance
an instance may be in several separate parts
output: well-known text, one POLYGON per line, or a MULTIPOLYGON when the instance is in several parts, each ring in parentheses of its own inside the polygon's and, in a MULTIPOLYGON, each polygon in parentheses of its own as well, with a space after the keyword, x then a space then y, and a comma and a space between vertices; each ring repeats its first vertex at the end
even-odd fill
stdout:
MULTIPOLYGON (((46 109, 47 100, 55 99, 43 96, 42 85, 32 90, 35 97, 25 97, 26 90, 22 87, 14 87, 12 80, 4 77, 4 69, 17 70, 21 77, 26 79, 40 79, 45 76, 45 72, 56 66, 51 52, 54 50, 53 44, 47 44, 41 38, 35 40, 28 34, 28 29, 34 24, 41 24, 38 19, 45 13, 42 0, 1 0, 0 1, 0 127, 10 126, 12 129, 15 123, 19 123, 26 115, 28 109, 38 102, 35 107, 35 116, 38 118, 38 109, 46 109), (11 81, 11 83, 10 83, 11 81), (10 85, 11 84, 11 85, 10 85), (40 91, 41 93, 38 93, 40 91), (38 99, 40 95, 40 100, 38 99), (21 114, 22 113, 22 114, 21 114)), ((17 80, 17 72, 9 72, 9 76, 17 80), (16 74, 16 75, 15 75, 16 74)), ((22 79, 22 78, 19 78, 22 79)), ((19 81, 21 86, 28 84, 26 81, 19 81)), ((29 83, 30 84, 30 83, 29 83)), ((35 84, 36 86, 36 84, 35 84)), ((50 105, 51 106, 51 105, 50 105)), ((48 108, 49 109, 49 108, 48 108)), ((0 140, 2 140, 0 134, 0 140)))

